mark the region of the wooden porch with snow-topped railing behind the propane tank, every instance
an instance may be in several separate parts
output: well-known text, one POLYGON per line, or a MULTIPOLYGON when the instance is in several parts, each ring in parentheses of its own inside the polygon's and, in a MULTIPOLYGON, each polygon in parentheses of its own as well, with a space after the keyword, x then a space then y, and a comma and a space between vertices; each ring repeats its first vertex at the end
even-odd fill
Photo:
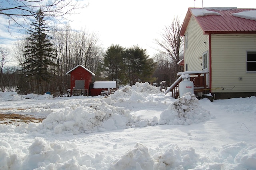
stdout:
POLYGON ((182 75, 189 74, 190 81, 194 83, 194 94, 200 96, 202 94, 207 94, 209 92, 207 84, 206 84, 206 74, 208 72, 202 71, 188 71, 188 72, 178 72, 178 76, 180 76, 167 90, 164 94, 168 92, 172 93, 173 98, 179 97, 179 84, 182 82, 182 75))

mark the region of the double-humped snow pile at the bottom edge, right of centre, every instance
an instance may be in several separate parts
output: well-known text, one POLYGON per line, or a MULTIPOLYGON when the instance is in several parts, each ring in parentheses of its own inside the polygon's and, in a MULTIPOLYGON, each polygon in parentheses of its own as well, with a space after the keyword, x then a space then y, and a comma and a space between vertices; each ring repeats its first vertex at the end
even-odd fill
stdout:
POLYGON ((200 161, 200 155, 192 147, 182 149, 170 144, 164 152, 151 153, 137 143, 133 150, 112 160, 109 170, 184 170, 196 167, 200 161))

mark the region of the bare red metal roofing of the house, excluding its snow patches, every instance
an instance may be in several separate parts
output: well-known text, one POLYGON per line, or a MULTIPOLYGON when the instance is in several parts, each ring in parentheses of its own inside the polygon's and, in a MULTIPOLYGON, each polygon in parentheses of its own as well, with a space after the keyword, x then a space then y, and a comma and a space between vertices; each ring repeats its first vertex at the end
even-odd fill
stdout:
MULTIPOLYGON (((186 27, 188 26, 188 22, 190 17, 193 16, 202 30, 204 34, 227 34, 227 33, 253 33, 256 34, 256 20, 250 20, 245 18, 240 18, 236 16, 232 16, 233 13, 243 12, 245 10, 255 10, 255 9, 220 9, 213 10, 207 9, 209 11, 218 12, 220 15, 206 15, 206 16, 194 16, 192 13, 192 9, 188 8, 188 12, 184 19, 184 22, 181 27, 180 35, 184 36, 186 27)), ((202 8, 201 8, 202 9, 202 8)))

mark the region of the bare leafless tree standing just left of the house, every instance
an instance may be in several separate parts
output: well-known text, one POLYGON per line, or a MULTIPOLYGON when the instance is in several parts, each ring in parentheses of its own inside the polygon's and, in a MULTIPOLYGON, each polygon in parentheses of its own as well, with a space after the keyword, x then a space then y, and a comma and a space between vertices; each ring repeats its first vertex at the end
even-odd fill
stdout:
POLYGON ((180 36, 181 23, 178 17, 174 17, 170 26, 165 26, 161 33, 162 40, 156 39, 155 42, 160 46, 158 52, 167 56, 166 60, 170 61, 172 70, 172 77, 177 78, 177 73, 182 71, 178 66, 178 62, 183 56, 180 56, 180 49, 183 46, 183 38, 180 36))

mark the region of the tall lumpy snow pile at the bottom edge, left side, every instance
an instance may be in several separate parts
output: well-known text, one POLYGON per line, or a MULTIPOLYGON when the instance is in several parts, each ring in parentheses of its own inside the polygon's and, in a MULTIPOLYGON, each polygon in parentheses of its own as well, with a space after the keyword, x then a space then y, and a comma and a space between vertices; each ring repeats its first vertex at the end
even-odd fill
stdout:
MULTIPOLYGON (((47 142, 37 137, 28 151, 29 153, 25 156, 21 165, 22 170, 86 169, 86 160, 82 160, 79 148, 74 142, 60 144, 58 141, 47 142), (80 164, 84 165, 80 166, 80 164)), ((90 166, 88 163, 87 165, 90 166)))

